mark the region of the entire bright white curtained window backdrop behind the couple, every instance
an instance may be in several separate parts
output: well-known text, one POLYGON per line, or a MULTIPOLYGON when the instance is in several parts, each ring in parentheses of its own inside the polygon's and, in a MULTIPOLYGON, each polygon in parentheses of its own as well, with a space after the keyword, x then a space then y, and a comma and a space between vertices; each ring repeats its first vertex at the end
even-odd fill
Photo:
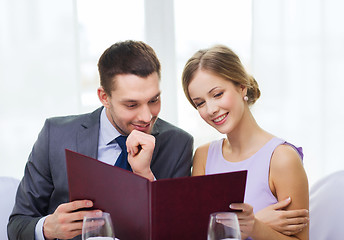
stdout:
POLYGON ((0 175, 21 178, 47 117, 92 111, 97 61, 142 40, 162 63, 161 117, 195 147, 221 136, 186 101, 181 72, 198 49, 232 48, 262 92, 252 111, 304 149, 312 185, 344 169, 340 0, 0 0, 0 175))

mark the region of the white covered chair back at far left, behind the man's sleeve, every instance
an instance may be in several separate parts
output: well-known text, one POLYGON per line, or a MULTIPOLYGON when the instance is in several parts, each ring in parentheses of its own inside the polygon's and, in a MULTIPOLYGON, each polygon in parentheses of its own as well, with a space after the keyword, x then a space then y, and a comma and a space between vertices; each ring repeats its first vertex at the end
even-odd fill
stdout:
POLYGON ((7 238, 7 223, 12 212, 19 180, 0 177, 0 239, 7 238))

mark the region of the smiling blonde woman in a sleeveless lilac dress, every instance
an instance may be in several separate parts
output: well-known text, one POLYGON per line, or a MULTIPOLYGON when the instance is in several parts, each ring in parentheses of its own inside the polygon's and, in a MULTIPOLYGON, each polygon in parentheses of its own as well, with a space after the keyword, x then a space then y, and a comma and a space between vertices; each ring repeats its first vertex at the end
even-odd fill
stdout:
POLYGON ((242 210, 237 213, 242 238, 308 239, 308 226, 290 235, 279 230, 266 210, 285 199, 291 199, 286 210, 308 210, 308 181, 301 149, 255 121, 249 107, 260 91, 239 57, 221 45, 200 50, 186 63, 182 82, 186 97, 204 121, 226 134, 196 150, 192 175, 248 170, 244 203, 230 206, 242 210))

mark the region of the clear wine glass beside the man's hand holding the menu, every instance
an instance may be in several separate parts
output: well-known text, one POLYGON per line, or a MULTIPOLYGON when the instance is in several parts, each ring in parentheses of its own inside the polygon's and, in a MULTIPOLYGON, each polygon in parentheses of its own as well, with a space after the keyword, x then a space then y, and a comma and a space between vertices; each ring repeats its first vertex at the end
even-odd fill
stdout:
POLYGON ((109 213, 101 216, 89 213, 84 217, 82 240, 114 240, 115 233, 109 213))

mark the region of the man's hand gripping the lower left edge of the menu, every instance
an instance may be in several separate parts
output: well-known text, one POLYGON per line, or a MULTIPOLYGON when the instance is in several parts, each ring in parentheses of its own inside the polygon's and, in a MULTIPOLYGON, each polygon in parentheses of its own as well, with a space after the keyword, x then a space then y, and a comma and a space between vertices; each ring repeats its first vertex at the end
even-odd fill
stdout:
POLYGON ((70 239, 81 234, 82 221, 87 214, 101 216, 100 210, 80 210, 90 208, 93 203, 89 200, 80 200, 70 203, 64 203, 58 206, 55 212, 48 215, 43 224, 43 234, 45 239, 70 239))

